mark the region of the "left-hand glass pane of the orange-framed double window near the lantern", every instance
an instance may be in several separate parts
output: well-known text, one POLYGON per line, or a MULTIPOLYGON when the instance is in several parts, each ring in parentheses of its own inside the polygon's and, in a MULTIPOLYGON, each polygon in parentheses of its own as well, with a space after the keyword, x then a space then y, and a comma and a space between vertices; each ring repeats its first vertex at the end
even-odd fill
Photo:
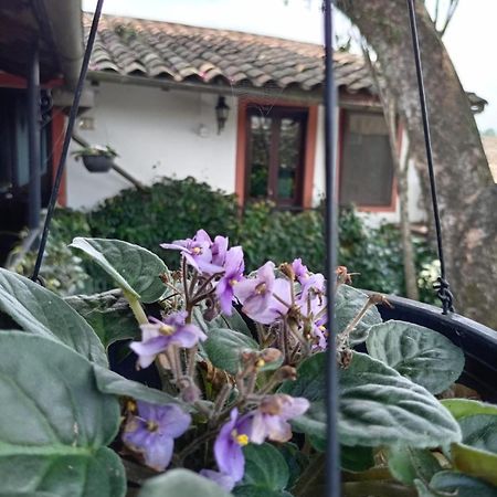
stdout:
POLYGON ((261 198, 267 195, 269 179, 271 155, 271 118, 251 116, 251 140, 248 144, 250 158, 250 191, 248 197, 261 198))

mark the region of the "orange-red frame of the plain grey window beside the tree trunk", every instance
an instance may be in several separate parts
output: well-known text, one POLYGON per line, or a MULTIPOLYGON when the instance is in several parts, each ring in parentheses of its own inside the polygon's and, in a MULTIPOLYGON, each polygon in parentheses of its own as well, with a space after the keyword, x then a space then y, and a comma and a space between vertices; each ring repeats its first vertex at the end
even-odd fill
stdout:
MULTIPOLYGON (((380 110, 366 110, 363 107, 341 107, 339 109, 338 113, 338 120, 339 120, 339 126, 338 126, 338 178, 337 178, 337 189, 338 189, 338 194, 340 194, 341 191, 341 171, 343 168, 343 156, 345 156, 345 135, 346 135, 346 130, 347 130, 347 113, 349 112, 362 112, 362 113, 374 113, 374 114, 380 114, 380 110)), ((402 127, 399 126, 399 131, 398 131, 398 150, 399 152, 402 151, 402 136, 403 136, 403 130, 402 127)), ((396 188, 396 175, 395 175, 395 169, 393 168, 393 178, 392 178, 392 192, 390 194, 390 203, 385 204, 385 205, 368 205, 368 204, 356 204, 356 208, 359 212, 373 212, 373 213, 392 213, 392 212, 396 212, 396 204, 398 204, 398 188, 396 188)))

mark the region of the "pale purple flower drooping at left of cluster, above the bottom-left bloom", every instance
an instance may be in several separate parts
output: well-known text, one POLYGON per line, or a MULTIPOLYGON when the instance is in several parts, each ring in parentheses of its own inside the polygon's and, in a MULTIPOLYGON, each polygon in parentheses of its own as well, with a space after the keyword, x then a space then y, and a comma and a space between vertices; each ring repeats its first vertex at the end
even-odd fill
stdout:
POLYGON ((133 341, 131 350, 138 356, 141 368, 148 368, 160 352, 171 346, 193 347, 199 340, 207 339, 205 334, 195 325, 186 325, 187 313, 173 313, 162 321, 150 318, 151 322, 141 325, 141 341, 133 341))

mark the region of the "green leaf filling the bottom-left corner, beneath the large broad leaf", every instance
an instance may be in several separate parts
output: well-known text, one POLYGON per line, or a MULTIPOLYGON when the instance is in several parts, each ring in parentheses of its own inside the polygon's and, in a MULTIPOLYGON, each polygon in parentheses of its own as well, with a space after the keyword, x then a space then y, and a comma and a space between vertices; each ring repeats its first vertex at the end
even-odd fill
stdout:
POLYGON ((95 454, 38 454, 0 456, 0 495, 59 497, 121 497, 126 493, 123 464, 114 451, 95 454), (41 494, 40 494, 41 495, 41 494))

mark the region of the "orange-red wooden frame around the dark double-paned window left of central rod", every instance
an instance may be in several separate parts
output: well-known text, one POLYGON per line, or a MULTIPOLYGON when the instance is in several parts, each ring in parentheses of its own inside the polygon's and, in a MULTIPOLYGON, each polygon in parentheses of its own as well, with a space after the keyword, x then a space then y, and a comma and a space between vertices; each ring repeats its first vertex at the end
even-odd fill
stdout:
MULTIPOLYGON (((306 112, 307 126, 305 128, 305 137, 303 140, 303 167, 302 176, 298 178, 302 181, 302 199, 300 205, 303 209, 313 207, 313 189, 314 189, 314 171, 316 161, 316 138, 317 138, 317 121, 318 121, 318 106, 315 104, 303 102, 279 101, 273 98, 240 98, 239 99, 239 115, 237 115, 237 142, 236 142, 236 173, 235 173, 235 193, 240 205, 244 205, 248 200, 248 162, 247 162, 247 144, 250 139, 250 128, 247 126, 248 117, 251 115, 251 105, 263 105, 271 107, 282 107, 306 112)), ((284 113, 284 110, 283 110, 284 113)), ((276 140, 274 140, 276 144, 276 140)), ((274 179, 272 180, 274 181, 274 179)), ((283 205, 284 207, 284 205, 283 205)))

